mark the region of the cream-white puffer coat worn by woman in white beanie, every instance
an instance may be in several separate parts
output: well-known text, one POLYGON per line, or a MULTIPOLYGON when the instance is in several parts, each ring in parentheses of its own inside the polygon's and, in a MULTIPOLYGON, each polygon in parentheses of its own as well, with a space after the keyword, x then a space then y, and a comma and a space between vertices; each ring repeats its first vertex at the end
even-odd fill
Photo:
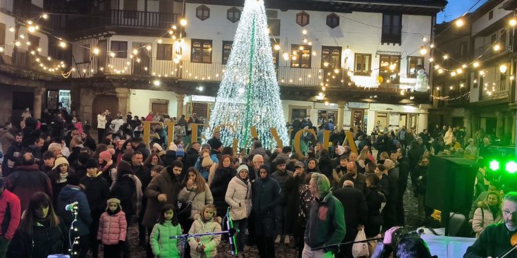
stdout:
POLYGON ((230 205, 232 220, 245 219, 252 211, 252 185, 250 180, 243 181, 236 175, 228 184, 225 201, 230 205))

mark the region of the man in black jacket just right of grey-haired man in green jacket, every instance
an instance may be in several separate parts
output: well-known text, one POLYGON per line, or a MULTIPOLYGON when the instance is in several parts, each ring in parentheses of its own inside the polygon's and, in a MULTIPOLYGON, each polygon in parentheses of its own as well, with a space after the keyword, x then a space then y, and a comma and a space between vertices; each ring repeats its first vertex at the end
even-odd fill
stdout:
MULTIPOLYGON (((365 195, 354 189, 354 182, 346 180, 343 183, 343 188, 334 191, 336 197, 343 208, 345 208, 345 225, 347 233, 343 242, 354 241, 358 230, 363 230, 366 224, 368 208, 366 205, 365 195)), ((341 252, 338 252, 336 257, 350 257, 352 258, 352 245, 347 244, 341 246, 341 252)))

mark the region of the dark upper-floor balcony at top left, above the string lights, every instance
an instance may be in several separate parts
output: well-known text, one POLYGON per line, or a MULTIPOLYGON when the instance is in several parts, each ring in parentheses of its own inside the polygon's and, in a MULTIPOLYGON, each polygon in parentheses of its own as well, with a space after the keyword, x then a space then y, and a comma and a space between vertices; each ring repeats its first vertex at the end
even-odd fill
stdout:
MULTIPOLYGON (((3 1, 3 0, 0 0, 3 1)), ((150 28, 167 30, 176 23, 180 14, 168 12, 141 12, 130 10, 107 10, 92 14, 92 17, 77 17, 68 21, 68 31, 74 32, 101 26, 125 28, 150 28)))

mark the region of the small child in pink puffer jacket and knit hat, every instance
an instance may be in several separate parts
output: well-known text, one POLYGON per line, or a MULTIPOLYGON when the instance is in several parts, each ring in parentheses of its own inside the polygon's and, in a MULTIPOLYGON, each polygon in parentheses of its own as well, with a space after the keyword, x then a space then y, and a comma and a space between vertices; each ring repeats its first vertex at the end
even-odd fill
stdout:
POLYGON ((104 244, 104 257, 120 257, 128 223, 125 221, 125 213, 119 199, 111 198, 107 203, 106 211, 99 219, 97 239, 104 244))

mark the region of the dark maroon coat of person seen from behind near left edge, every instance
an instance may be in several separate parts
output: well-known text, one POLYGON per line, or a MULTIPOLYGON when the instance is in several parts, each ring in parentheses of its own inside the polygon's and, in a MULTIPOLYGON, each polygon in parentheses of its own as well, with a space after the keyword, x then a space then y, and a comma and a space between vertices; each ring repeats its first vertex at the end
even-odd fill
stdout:
POLYGON ((6 179, 6 189, 20 198, 21 212, 29 206, 30 197, 36 192, 46 193, 52 200, 52 184, 48 175, 39 171, 38 165, 17 166, 6 179))

